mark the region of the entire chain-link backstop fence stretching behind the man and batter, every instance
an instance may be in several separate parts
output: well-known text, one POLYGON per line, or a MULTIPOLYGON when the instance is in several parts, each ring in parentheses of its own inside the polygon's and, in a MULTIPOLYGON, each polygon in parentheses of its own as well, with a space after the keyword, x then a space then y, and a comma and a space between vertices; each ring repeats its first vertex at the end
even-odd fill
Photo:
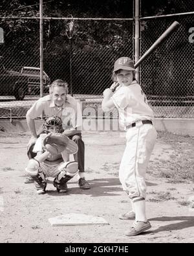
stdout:
MULTIPOLYGON (((140 84, 155 117, 193 118, 194 14, 160 16, 175 14, 175 10, 190 12, 194 4, 166 1, 164 8, 162 1, 145 3, 141 4, 141 56, 173 21, 180 27, 141 64, 140 84), (153 7, 158 17, 144 18, 153 15, 153 7)), ((71 40, 65 24, 65 19, 53 17, 43 22, 44 95, 50 82, 61 78, 81 100, 83 115, 102 117, 102 93, 112 84, 114 61, 134 55, 133 19, 76 19, 71 40)), ((4 30, 4 43, 0 43, 0 118, 23 118, 40 92, 39 18, 0 17, 0 27, 4 30)), ((110 118, 117 115, 116 110, 107 114, 110 118)))

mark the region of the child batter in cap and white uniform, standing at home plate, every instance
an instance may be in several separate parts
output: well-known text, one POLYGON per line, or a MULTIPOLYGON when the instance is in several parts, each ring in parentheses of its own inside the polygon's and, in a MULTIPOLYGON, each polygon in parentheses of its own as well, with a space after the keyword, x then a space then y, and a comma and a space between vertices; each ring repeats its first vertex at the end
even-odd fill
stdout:
POLYGON ((126 147, 120 163, 119 178, 127 192, 133 211, 120 215, 121 219, 135 218, 125 235, 138 235, 151 227, 146 217, 146 169, 153 151, 157 132, 153 126, 153 110, 146 95, 135 80, 135 67, 128 57, 114 62, 111 88, 103 91, 102 109, 116 106, 120 126, 126 132, 126 147), (119 86, 118 86, 119 84, 119 86), (115 89, 115 86, 116 87, 115 89), (114 91, 115 89, 115 91, 114 91))

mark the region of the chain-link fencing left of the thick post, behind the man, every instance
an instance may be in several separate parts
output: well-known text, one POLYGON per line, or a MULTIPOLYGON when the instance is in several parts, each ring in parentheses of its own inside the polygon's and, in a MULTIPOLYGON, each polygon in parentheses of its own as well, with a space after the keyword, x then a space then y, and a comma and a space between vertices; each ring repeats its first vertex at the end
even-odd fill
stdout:
MULTIPOLYGON (((10 115, 10 109, 12 117, 25 117, 28 108, 39 97, 39 86, 37 86, 39 75, 32 69, 39 67, 39 20, 25 22, 26 27, 17 28, 23 30, 23 38, 10 39, 5 32, 5 41, 9 43, 1 45, 0 56, 4 75, 6 72, 6 84, 1 86, 1 118, 10 115), (29 27, 36 31, 33 36, 30 36, 32 30, 29 31, 29 27), (22 70, 25 74, 21 73, 22 70), (19 88, 23 88, 19 97, 18 87, 14 87, 17 80, 24 80, 18 83, 19 88), (32 90, 33 86, 36 86, 36 90, 32 90)), ((111 74, 114 60, 120 56, 133 56, 133 21, 95 19, 75 21, 71 42, 65 33, 65 23, 65 20, 44 21, 43 64, 44 72, 49 78, 45 81, 44 92, 48 93, 49 81, 63 79, 72 86, 74 97, 81 102, 87 101, 83 102, 83 108, 89 106, 88 104, 91 106, 92 102, 96 108, 101 104, 103 90, 113 82, 111 74), (115 31, 118 31, 117 34, 115 31), (70 81, 71 74, 72 81, 70 81)), ((18 22, 15 21, 14 24, 17 25, 18 22)), ((0 20, 0 27, 6 30, 3 20, 0 20)), ((100 115, 103 115, 102 110, 100 115)), ((116 110, 114 115, 117 116, 116 110)))

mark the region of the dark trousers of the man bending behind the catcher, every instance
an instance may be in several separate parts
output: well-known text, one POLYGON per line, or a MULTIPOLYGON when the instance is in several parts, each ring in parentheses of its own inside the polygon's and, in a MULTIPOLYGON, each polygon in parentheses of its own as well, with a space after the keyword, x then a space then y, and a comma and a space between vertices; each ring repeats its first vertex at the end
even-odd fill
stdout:
MULTIPOLYGON (((78 145, 78 152, 74 154, 74 160, 78 162, 78 169, 80 172, 84 172, 84 160, 85 160, 85 145, 82 141, 81 134, 76 134, 69 136, 69 139, 72 139, 78 145)), ((32 144, 27 152, 28 158, 34 158, 36 153, 32 152, 34 144, 32 144)))

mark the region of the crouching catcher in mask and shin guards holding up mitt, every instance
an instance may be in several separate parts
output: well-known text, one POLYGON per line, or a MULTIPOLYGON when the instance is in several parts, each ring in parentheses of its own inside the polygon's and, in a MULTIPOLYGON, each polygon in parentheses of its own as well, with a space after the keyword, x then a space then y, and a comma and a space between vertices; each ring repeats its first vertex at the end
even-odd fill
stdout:
POLYGON ((76 154, 78 146, 63 131, 61 119, 49 117, 43 124, 41 134, 34 146, 36 157, 28 161, 25 169, 34 180, 38 194, 45 194, 46 178, 54 178, 53 185, 60 193, 67 192, 67 181, 78 173, 78 163, 69 161, 70 154, 76 154))

